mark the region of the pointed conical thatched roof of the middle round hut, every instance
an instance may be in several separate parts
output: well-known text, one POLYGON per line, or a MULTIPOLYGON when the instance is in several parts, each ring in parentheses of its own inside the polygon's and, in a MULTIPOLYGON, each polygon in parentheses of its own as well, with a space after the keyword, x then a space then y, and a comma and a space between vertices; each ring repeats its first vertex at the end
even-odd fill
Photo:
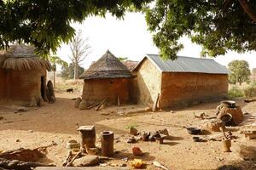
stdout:
POLYGON ((131 72, 109 51, 79 77, 80 79, 131 78, 131 72))

